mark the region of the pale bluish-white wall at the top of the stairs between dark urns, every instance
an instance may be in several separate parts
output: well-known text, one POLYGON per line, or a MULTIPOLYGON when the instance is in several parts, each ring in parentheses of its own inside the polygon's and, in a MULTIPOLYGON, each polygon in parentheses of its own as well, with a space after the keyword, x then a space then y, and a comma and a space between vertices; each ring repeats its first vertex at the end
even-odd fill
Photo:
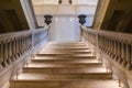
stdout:
POLYGON ((50 30, 51 41, 79 41, 79 33, 76 15, 54 15, 50 30))

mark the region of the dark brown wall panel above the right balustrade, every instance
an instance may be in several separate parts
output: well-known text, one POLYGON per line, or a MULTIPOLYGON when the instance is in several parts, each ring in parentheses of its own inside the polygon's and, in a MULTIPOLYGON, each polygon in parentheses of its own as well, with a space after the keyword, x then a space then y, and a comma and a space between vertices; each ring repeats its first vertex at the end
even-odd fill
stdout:
POLYGON ((108 10, 101 24, 101 29, 132 33, 131 31, 132 26, 129 26, 131 19, 132 19, 131 0, 110 0, 108 10), (130 28, 130 30, 127 29, 128 26, 130 28))

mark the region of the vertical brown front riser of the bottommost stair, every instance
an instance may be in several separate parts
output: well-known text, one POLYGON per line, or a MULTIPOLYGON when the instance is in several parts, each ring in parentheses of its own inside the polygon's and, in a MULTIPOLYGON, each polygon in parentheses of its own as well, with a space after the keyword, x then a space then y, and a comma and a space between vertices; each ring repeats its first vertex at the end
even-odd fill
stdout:
POLYGON ((118 88, 116 84, 72 81, 11 81, 10 88, 118 88), (78 85, 79 84, 79 85, 78 85))

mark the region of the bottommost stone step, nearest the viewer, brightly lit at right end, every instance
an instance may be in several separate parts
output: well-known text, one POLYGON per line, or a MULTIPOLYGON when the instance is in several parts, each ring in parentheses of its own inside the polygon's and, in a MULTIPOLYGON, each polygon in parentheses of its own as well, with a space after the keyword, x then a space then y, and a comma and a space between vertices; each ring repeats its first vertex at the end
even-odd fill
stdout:
MULTIPOLYGON (((118 80, 22 80, 13 79, 11 88, 119 88, 118 80)), ((121 88, 121 87, 120 87, 121 88)))

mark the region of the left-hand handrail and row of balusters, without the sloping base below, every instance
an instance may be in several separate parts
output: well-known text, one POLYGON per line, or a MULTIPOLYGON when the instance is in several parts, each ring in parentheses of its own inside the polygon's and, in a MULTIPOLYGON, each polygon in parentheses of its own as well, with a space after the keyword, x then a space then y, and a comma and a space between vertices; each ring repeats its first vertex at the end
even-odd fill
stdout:
POLYGON ((37 29, 0 35, 0 70, 10 66, 47 37, 47 29, 37 29))

